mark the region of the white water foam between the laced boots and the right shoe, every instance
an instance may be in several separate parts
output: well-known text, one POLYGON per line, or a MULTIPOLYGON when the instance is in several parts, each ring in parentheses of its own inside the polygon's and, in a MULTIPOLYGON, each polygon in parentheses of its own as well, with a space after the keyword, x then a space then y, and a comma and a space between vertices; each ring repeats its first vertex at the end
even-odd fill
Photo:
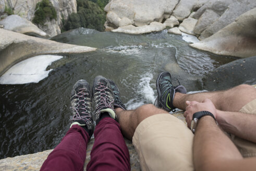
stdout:
POLYGON ((137 97, 129 100, 126 103, 127 109, 136 109, 139 106, 147 103, 154 103, 156 96, 154 96, 153 84, 150 81, 153 79, 153 74, 146 73, 141 76, 137 86, 137 97))

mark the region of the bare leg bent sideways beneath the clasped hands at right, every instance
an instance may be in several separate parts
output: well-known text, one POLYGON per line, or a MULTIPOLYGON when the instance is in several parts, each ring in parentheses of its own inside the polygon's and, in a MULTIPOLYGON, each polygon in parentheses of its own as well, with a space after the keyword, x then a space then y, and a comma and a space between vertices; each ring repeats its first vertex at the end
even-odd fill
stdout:
POLYGON ((221 111, 238 112, 244 105, 256 99, 256 89, 242 84, 225 91, 196 94, 175 93, 173 104, 175 107, 185 110, 186 101, 202 102, 205 99, 210 99, 221 111))

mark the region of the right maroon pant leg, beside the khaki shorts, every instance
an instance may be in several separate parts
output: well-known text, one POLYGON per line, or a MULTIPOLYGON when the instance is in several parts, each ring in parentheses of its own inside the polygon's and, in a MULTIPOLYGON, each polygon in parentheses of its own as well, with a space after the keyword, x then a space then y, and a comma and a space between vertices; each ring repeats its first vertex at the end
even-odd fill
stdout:
POLYGON ((94 138, 87 170, 130 170, 129 151, 117 121, 103 118, 94 130, 94 138))

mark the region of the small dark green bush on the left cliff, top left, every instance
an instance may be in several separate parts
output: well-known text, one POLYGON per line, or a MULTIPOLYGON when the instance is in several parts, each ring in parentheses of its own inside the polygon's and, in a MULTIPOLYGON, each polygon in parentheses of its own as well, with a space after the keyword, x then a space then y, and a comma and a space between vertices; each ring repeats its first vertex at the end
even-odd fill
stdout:
POLYGON ((34 19, 32 21, 37 25, 44 25, 46 18, 50 18, 50 20, 56 20, 57 13, 49 0, 42 0, 35 6, 34 19))

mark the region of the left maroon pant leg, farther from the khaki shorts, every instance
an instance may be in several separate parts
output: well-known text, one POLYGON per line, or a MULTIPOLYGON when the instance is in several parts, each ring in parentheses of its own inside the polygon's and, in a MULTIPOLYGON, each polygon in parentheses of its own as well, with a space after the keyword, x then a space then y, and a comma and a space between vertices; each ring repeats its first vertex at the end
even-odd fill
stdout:
POLYGON ((56 148, 48 155, 40 170, 83 170, 89 135, 73 125, 56 148))

